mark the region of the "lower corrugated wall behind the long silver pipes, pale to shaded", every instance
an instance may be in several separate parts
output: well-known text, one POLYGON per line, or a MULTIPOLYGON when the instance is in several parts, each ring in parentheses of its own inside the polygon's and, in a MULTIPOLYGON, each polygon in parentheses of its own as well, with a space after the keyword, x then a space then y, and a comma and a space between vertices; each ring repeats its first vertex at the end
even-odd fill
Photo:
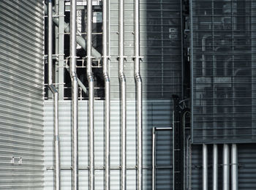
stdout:
MULTIPOLYGON (((61 140, 61 186, 71 189, 71 102, 59 103, 59 131, 61 140)), ((110 186, 120 189, 120 124, 119 102, 111 101, 110 123, 110 186)), ((143 102, 143 189, 151 189, 151 136, 152 126, 170 126, 170 100, 143 102)), ((79 102, 78 107, 78 147, 79 147, 79 184, 81 189, 88 189, 88 102, 79 102)), ((95 156, 95 189, 104 189, 104 104, 95 101, 94 121, 94 156, 95 156)), ((136 132, 135 101, 127 102, 127 189, 136 189, 136 132)), ((170 132, 158 132, 157 165, 159 167, 172 164, 172 142, 170 132)), ((53 189, 53 102, 45 101, 45 189, 53 189)), ((157 186, 159 189, 170 189, 171 171, 157 170, 157 186)))

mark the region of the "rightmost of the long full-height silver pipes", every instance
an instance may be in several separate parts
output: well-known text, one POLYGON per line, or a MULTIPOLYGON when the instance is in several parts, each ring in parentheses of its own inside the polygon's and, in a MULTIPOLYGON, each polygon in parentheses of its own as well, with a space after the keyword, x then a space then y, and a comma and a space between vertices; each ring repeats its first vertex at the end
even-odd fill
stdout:
POLYGON ((142 79, 140 77, 140 1, 135 0, 135 83, 136 83, 136 113, 137 113, 137 189, 143 189, 142 184, 142 79))

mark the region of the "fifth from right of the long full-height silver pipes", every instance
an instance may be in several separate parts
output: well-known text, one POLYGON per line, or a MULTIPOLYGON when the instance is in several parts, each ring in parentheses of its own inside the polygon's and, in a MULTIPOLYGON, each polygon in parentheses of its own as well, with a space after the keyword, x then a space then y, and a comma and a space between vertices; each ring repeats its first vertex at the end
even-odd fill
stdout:
POLYGON ((78 79, 76 73, 76 0, 70 1, 70 65, 72 80, 72 189, 78 189, 78 79))

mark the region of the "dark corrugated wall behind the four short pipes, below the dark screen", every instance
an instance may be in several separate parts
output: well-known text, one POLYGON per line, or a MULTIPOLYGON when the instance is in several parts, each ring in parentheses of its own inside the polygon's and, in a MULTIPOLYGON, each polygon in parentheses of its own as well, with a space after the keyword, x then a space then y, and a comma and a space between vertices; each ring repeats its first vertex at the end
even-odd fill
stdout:
MULTIPOLYGON (((219 145, 219 187, 222 189, 222 145, 219 145)), ((202 187, 202 145, 192 145, 192 189, 202 187)), ((238 189, 255 189, 255 144, 238 144, 238 189)), ((212 189, 212 146, 208 145, 208 189, 212 189)))

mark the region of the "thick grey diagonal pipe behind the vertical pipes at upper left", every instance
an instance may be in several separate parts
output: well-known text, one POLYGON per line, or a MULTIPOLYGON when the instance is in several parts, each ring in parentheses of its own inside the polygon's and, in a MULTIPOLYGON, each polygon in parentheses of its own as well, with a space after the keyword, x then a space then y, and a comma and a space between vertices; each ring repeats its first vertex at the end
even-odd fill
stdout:
MULTIPOLYGON (((48 10, 48 7, 46 7, 45 6, 45 14, 47 14, 47 10, 48 10)), ((71 5, 70 5, 70 10, 71 10, 71 5)), ((55 12, 53 11, 53 14, 54 14, 55 12)), ((59 27, 59 18, 53 18, 53 22, 56 24, 56 26, 58 26, 59 27)), ((70 25, 71 25, 71 23, 70 23, 70 25)), ((64 23, 64 31, 66 32, 66 33, 69 33, 70 32, 70 30, 71 30, 71 28, 69 28, 69 24, 68 23, 64 23)), ((76 41, 77 41, 77 43, 83 48, 83 50, 86 50, 86 40, 85 39, 83 39, 83 37, 81 37, 81 36, 77 36, 77 38, 76 38, 76 41)), ((101 58, 101 54, 97 51, 97 50, 95 50, 94 49, 94 47, 92 47, 92 49, 91 49, 91 55, 92 56, 94 56, 94 58, 96 58, 96 59, 100 59, 101 58)))

